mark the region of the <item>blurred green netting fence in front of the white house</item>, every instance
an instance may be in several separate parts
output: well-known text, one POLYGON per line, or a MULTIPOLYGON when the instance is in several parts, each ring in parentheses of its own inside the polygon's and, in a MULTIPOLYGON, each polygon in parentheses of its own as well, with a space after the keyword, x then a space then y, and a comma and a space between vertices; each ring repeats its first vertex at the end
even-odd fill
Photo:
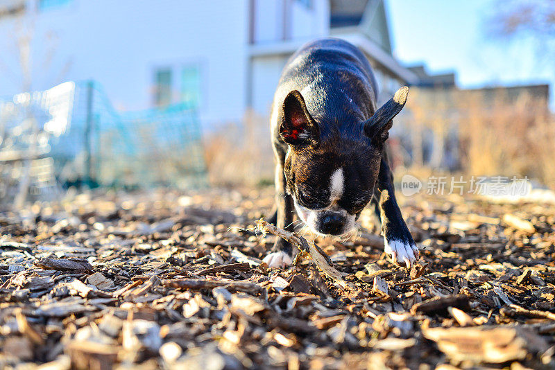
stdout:
POLYGON ((118 112, 92 81, 0 97, 0 200, 68 186, 198 187, 206 178, 194 107, 118 112))

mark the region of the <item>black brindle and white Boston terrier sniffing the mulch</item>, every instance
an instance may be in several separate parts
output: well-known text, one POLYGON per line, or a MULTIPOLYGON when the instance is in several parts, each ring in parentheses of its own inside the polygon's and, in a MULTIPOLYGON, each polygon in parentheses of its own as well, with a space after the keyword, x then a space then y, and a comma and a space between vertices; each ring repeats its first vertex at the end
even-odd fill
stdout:
MULTIPOLYGON (((318 39, 287 62, 271 113, 276 224, 293 231, 293 212, 314 234, 343 236, 373 202, 382 221, 385 251, 407 267, 418 247, 393 189, 384 145, 408 87, 376 109, 377 82, 357 47, 318 39)), ((268 267, 292 263, 295 248, 278 238, 268 267)))

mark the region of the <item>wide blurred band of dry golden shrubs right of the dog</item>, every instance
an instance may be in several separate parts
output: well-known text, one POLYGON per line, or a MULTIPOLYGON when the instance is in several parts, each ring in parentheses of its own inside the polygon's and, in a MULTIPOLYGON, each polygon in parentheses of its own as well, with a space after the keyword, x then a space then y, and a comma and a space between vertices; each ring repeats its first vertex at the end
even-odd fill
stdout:
POLYGON ((549 164, 555 150, 555 119, 545 99, 524 89, 509 96, 506 89, 413 88, 407 108, 407 114, 400 117, 400 132, 409 133, 412 166, 445 170, 441 165, 444 143, 454 135, 457 171, 475 176, 528 176, 555 188, 549 164), (427 162, 422 160, 426 145, 432 148, 427 162))

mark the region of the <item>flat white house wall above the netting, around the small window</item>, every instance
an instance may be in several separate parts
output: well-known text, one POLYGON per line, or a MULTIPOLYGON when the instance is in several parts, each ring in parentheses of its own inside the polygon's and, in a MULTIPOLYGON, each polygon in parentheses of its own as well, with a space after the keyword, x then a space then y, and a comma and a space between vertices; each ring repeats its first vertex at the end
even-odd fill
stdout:
POLYGON ((0 18, 0 95, 29 85, 23 83, 14 42, 26 26, 32 30, 31 89, 94 79, 117 108, 144 109, 154 103, 157 69, 171 69, 178 100, 181 69, 194 65, 200 71, 203 123, 242 118, 248 0, 58 0, 58 6, 44 10, 37 9, 37 1, 27 0, 24 16, 0 18))

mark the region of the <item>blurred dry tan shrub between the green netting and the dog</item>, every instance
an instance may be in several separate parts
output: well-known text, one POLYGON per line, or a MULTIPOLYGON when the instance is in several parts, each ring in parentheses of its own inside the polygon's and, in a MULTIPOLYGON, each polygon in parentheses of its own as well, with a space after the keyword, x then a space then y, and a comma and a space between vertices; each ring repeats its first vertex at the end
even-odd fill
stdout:
POLYGON ((205 135, 210 184, 253 186, 273 182, 269 120, 247 112, 242 124, 228 124, 205 135))

